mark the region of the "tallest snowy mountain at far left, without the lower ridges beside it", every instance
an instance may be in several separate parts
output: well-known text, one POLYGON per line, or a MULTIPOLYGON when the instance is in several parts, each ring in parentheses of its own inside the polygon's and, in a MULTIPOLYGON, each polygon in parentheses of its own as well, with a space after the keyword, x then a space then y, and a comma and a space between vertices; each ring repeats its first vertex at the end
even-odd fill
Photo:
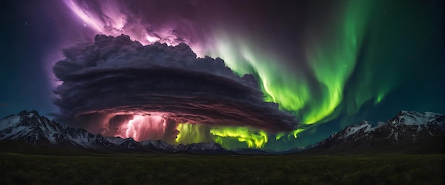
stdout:
POLYGON ((37 111, 21 111, 0 120, 0 140, 23 140, 35 145, 80 147, 93 150, 115 150, 102 135, 71 128, 40 116, 37 111))

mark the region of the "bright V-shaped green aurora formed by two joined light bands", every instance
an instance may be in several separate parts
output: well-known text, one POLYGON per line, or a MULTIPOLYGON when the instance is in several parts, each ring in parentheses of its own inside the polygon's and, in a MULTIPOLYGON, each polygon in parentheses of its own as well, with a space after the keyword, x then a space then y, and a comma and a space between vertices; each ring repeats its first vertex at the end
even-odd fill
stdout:
MULTIPOLYGON (((366 1, 369 3, 370 1, 366 1)), ((343 91, 355 68, 367 23, 365 2, 350 1, 329 35, 309 37, 306 62, 311 74, 301 69, 289 72, 279 57, 271 55, 248 37, 217 31, 215 48, 208 52, 221 57, 237 74, 254 74, 264 92, 264 101, 301 117, 304 124, 323 123, 343 100, 343 91), (331 33, 333 35, 331 35, 331 33), (315 77, 318 84, 309 84, 315 77)))

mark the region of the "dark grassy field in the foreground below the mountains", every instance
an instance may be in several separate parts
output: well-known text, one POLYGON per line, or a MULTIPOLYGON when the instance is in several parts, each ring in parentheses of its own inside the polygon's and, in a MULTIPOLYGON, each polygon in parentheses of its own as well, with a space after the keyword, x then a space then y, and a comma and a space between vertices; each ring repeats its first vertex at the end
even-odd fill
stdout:
POLYGON ((0 184, 444 184, 444 155, 104 154, 0 144, 0 184))

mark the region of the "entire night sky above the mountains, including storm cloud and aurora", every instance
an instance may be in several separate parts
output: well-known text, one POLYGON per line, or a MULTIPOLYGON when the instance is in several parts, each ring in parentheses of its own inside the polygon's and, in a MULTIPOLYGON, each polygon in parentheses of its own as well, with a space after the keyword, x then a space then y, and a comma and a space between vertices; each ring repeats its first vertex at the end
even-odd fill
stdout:
POLYGON ((443 7, 2 1, 0 117, 35 109, 103 135, 284 149, 401 110, 445 113, 443 7))

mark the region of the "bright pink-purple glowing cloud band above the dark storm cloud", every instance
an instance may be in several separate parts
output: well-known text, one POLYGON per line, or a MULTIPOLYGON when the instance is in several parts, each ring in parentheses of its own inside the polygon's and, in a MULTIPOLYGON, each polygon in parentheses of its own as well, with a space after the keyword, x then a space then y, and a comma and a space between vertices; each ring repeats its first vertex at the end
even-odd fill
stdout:
POLYGON ((113 36, 129 35, 144 45, 154 42, 167 45, 186 43, 203 57, 199 52, 203 48, 200 43, 202 40, 198 39, 202 33, 195 28, 195 23, 181 16, 146 20, 146 17, 153 18, 153 16, 141 11, 149 12, 156 9, 155 5, 148 1, 145 2, 146 5, 142 5, 145 9, 141 10, 138 7, 137 11, 132 9, 132 4, 126 4, 124 1, 64 0, 63 2, 82 23, 85 23, 85 26, 97 33, 113 36))

